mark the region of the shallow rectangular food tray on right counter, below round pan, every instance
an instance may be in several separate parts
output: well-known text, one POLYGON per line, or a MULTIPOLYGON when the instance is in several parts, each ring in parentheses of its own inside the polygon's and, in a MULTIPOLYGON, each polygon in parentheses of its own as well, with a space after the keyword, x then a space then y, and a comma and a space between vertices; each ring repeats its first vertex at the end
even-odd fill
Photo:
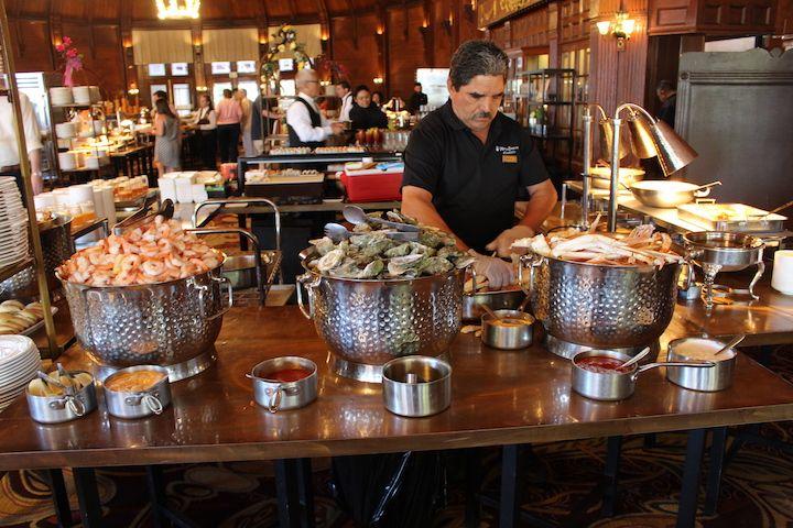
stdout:
POLYGON ((775 233, 784 230, 787 217, 767 215, 768 211, 743 204, 685 204, 677 206, 677 218, 709 231, 775 233))

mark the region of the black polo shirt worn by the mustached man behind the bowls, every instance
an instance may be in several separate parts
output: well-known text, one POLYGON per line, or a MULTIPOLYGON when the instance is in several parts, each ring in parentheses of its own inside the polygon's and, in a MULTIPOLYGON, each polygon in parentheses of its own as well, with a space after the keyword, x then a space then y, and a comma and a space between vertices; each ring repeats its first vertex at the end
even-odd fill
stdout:
POLYGON ((452 110, 431 112, 410 135, 402 186, 428 190, 441 217, 477 251, 514 226, 514 202, 548 178, 536 144, 517 121, 499 112, 487 144, 452 110))

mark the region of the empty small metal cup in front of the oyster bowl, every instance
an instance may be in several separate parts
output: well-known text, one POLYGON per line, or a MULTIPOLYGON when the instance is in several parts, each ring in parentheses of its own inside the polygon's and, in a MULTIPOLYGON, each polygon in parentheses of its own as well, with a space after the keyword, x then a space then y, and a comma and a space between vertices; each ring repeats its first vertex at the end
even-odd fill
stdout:
POLYGON ((452 365, 437 358, 408 355, 383 365, 383 402, 394 415, 422 417, 452 404, 452 365))

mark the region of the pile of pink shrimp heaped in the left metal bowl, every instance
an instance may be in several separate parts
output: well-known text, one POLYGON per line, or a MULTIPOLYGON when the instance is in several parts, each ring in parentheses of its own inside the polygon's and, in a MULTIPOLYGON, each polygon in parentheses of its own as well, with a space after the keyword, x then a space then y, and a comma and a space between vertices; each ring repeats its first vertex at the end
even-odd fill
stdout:
POLYGON ((177 222, 156 217, 143 228, 111 234, 80 250, 58 267, 69 283, 129 286, 186 278, 220 265, 222 254, 177 222))

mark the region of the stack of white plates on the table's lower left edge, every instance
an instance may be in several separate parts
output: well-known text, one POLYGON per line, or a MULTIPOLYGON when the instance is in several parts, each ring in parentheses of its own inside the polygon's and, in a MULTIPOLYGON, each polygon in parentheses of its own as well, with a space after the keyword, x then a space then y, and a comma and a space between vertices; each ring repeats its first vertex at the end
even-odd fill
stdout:
POLYGON ((24 393, 41 369, 39 349, 24 336, 0 336, 0 411, 24 393))

